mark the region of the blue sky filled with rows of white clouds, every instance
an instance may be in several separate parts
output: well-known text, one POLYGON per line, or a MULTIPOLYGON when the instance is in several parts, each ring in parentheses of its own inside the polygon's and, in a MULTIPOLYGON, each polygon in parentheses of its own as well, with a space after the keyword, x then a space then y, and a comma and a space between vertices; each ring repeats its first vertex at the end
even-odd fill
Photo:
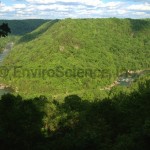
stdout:
POLYGON ((0 19, 150 18, 150 0, 0 0, 0 19))

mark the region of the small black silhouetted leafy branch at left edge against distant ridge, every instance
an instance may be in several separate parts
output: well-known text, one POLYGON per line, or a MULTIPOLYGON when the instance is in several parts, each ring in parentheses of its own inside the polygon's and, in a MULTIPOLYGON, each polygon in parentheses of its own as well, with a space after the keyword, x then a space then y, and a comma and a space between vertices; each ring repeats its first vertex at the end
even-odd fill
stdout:
POLYGON ((5 37, 8 33, 11 33, 8 23, 3 23, 0 25, 0 37, 5 37))

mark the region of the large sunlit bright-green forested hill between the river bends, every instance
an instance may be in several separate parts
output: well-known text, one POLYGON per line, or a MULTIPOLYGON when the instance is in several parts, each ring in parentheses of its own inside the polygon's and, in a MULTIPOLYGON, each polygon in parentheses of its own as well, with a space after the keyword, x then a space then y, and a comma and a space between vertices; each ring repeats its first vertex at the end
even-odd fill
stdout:
POLYGON ((149 19, 51 21, 18 41, 5 82, 23 95, 103 97, 119 73, 150 67, 149 41, 149 19))

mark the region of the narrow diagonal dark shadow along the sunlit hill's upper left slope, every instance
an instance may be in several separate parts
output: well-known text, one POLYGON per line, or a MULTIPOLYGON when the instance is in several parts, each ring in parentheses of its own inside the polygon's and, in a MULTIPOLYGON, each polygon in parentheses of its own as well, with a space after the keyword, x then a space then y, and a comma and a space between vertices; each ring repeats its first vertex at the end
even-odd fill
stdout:
POLYGON ((38 30, 38 31, 33 31, 31 33, 27 33, 18 41, 18 44, 23 43, 23 42, 29 42, 29 41, 34 40, 35 38, 38 38, 41 34, 46 32, 50 27, 52 27, 58 21, 59 21, 58 19, 50 21, 48 22, 49 24, 45 28, 42 28, 41 30, 38 30))

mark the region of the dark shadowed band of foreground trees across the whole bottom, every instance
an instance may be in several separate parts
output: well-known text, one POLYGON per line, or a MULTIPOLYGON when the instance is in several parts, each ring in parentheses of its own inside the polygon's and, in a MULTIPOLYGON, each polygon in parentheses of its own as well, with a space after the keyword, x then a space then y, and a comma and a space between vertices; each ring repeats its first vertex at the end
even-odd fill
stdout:
POLYGON ((63 103, 44 96, 0 101, 1 150, 149 150, 150 81, 139 91, 112 99, 82 100, 70 95, 63 103), (46 114, 44 137, 43 111, 46 114), (52 127, 52 128, 51 128, 52 127))

